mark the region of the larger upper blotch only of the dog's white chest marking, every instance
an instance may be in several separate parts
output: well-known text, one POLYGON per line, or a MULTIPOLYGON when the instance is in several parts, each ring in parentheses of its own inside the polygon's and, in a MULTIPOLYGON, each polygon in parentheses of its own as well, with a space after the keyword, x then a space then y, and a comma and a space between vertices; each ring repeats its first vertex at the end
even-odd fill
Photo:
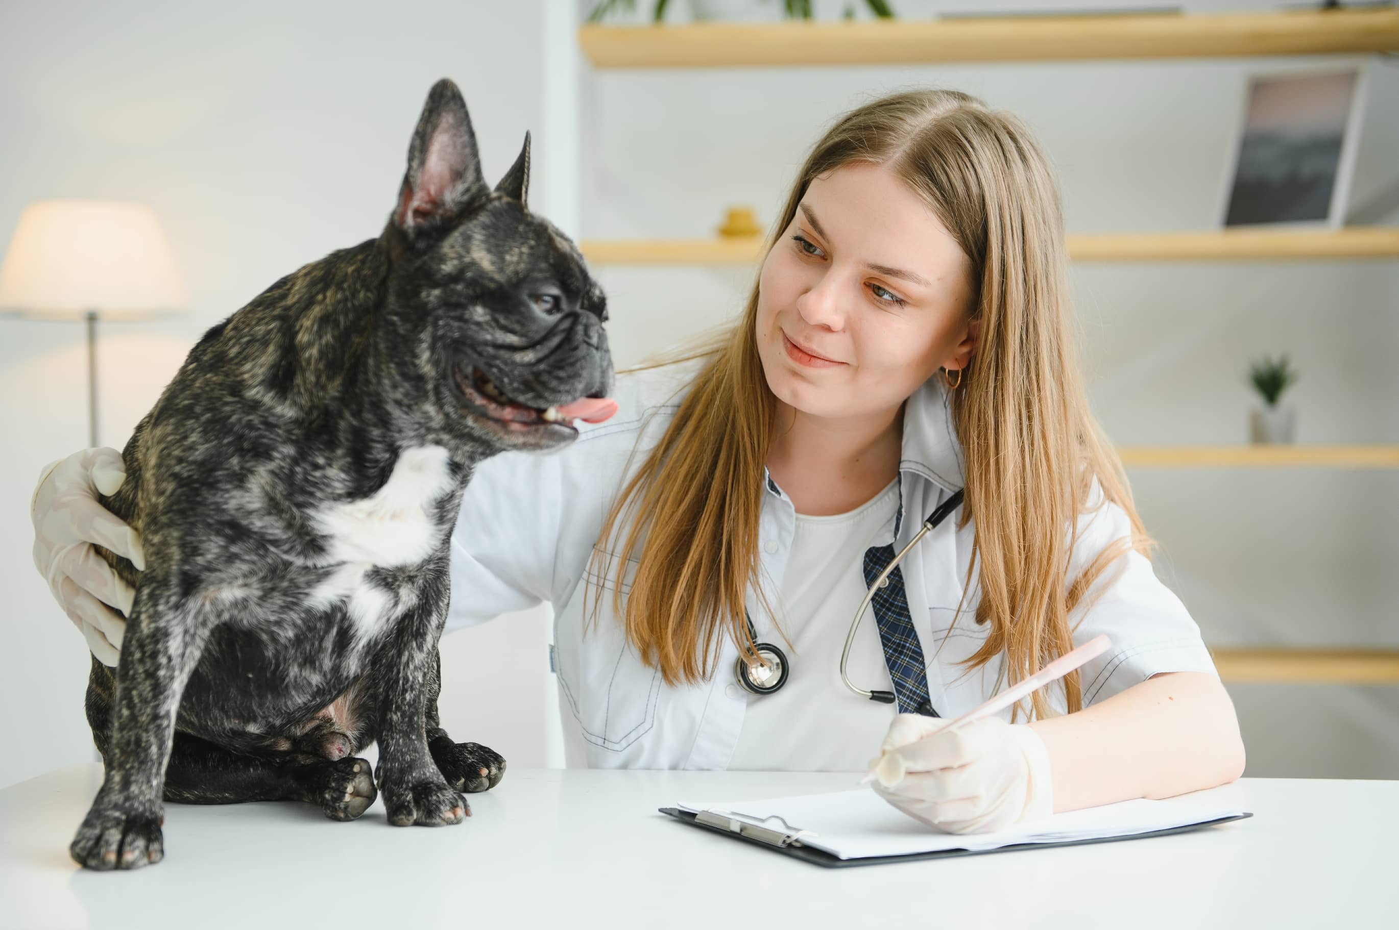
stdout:
POLYGON ((450 487, 446 449, 404 449, 389 481, 374 496, 316 513, 318 529, 330 537, 330 561, 381 566, 421 562, 438 545, 428 505, 450 487))

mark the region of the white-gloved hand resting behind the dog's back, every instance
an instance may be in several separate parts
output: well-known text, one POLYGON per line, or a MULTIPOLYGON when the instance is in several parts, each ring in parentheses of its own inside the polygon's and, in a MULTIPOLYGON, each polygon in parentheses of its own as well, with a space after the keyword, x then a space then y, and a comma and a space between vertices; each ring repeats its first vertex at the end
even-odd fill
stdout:
POLYGON ((92 543, 145 568, 141 537, 97 501, 97 491, 116 494, 126 466, 116 449, 84 449, 43 467, 29 502, 34 564, 55 600, 83 631, 99 661, 115 666, 136 592, 118 578, 92 543))

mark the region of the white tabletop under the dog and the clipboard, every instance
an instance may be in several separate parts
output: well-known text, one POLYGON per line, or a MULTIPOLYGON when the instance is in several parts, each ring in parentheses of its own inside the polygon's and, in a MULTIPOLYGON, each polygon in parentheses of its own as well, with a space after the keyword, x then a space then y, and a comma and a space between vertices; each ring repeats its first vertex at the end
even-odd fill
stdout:
POLYGON ((841 790, 849 775, 519 771, 460 827, 353 824, 309 804, 168 804, 165 861, 90 873, 69 840, 101 779, 0 792, 0 926, 964 927, 1399 926, 1399 782, 1244 779, 1254 818, 1121 843, 821 868, 684 827, 680 800, 841 790))

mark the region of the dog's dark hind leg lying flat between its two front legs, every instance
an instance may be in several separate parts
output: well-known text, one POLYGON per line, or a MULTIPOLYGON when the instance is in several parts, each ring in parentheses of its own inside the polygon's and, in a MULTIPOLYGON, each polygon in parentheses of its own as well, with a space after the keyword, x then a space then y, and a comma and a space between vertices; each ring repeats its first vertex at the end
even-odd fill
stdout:
POLYGON ((306 801, 330 820, 350 821, 376 796, 367 759, 246 755, 187 733, 175 734, 165 769, 165 800, 183 804, 306 801))

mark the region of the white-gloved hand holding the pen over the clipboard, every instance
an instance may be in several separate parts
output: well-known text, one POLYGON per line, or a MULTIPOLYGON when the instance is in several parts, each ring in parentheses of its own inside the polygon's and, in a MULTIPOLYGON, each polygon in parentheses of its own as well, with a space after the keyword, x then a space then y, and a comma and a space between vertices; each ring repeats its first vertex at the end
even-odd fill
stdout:
POLYGON ((947 723, 894 717, 872 764, 884 776, 873 782, 880 797, 947 834, 989 834, 1053 813, 1049 751, 1028 724, 983 717, 939 734, 947 723))

